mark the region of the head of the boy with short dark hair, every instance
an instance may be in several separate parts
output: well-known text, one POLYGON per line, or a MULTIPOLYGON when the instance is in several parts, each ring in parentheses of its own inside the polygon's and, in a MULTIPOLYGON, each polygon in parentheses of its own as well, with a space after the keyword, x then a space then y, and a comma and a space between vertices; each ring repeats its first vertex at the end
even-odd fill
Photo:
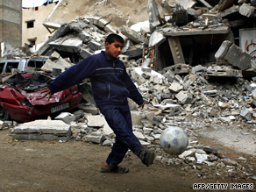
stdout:
POLYGON ((108 35, 107 39, 105 40, 106 53, 112 58, 118 57, 118 55, 122 52, 123 46, 124 39, 115 33, 108 35))

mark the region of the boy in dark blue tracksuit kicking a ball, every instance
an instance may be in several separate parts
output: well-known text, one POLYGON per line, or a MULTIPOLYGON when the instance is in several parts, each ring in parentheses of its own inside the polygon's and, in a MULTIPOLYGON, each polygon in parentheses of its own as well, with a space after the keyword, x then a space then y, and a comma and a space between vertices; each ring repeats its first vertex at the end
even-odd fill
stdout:
POLYGON ((110 128, 116 134, 116 142, 103 163, 103 173, 128 173, 127 167, 117 165, 124 159, 128 148, 148 167, 153 164, 154 153, 147 151, 132 133, 132 117, 127 97, 144 108, 144 100, 127 75, 124 63, 117 59, 124 46, 124 39, 115 33, 105 40, 105 51, 94 54, 68 68, 51 82, 42 93, 49 98, 56 92, 67 89, 75 83, 90 78, 92 93, 110 128))

